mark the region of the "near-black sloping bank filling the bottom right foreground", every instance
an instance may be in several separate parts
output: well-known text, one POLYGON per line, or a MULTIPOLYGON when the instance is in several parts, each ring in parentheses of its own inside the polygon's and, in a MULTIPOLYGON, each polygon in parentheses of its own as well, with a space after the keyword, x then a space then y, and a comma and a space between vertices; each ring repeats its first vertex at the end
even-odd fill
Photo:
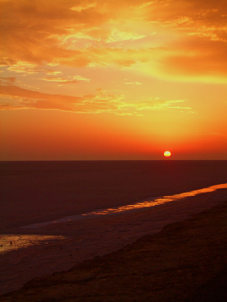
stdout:
POLYGON ((0 301, 227 301, 227 201, 0 301))

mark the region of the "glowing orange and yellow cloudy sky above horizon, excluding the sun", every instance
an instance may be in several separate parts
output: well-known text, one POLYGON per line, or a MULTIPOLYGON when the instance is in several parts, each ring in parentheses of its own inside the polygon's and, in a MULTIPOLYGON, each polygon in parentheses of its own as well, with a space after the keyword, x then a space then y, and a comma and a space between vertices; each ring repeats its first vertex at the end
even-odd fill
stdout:
POLYGON ((225 0, 0 6, 0 160, 227 159, 225 0))

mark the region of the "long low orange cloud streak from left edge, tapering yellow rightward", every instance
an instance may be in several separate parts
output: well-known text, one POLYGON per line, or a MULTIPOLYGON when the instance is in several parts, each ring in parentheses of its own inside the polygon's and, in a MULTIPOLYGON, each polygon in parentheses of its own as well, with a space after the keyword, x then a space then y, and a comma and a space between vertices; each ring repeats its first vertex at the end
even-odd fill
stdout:
MULTIPOLYGON (((14 85, 0 86, 0 95, 10 98, 15 104, 2 104, 1 109, 46 109, 61 110, 77 113, 101 113, 111 112, 114 114, 135 113, 138 110, 161 110, 166 108, 191 109, 189 107, 175 106, 176 103, 182 103, 183 100, 173 101, 146 101, 146 102, 127 102, 124 95, 113 95, 97 89, 96 95, 84 95, 75 97, 70 95, 52 95, 41 93, 29 89, 20 88, 14 85), (133 113, 129 112, 130 108, 133 113)), ((136 112, 137 113, 137 112, 136 112)))

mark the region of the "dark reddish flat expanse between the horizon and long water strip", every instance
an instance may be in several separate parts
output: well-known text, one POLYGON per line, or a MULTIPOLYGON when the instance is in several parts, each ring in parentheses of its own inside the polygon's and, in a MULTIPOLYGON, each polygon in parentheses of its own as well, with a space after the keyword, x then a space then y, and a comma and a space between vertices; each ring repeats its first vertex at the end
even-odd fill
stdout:
POLYGON ((10 162, 1 170, 0 232, 227 182, 227 161, 10 162))

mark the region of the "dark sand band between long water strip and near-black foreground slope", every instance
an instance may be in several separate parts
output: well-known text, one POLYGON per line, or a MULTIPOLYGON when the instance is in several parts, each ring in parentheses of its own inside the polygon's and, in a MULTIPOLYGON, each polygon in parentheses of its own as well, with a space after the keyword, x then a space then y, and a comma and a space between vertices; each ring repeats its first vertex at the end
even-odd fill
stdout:
POLYGON ((1 242, 5 239, 6 243, 0 257, 0 294, 19 289, 32 278, 120 249, 225 200, 227 189, 219 189, 130 214, 90 217, 37 229, 7 228, 1 236, 1 242), (6 245, 9 251, 3 251, 6 245))

